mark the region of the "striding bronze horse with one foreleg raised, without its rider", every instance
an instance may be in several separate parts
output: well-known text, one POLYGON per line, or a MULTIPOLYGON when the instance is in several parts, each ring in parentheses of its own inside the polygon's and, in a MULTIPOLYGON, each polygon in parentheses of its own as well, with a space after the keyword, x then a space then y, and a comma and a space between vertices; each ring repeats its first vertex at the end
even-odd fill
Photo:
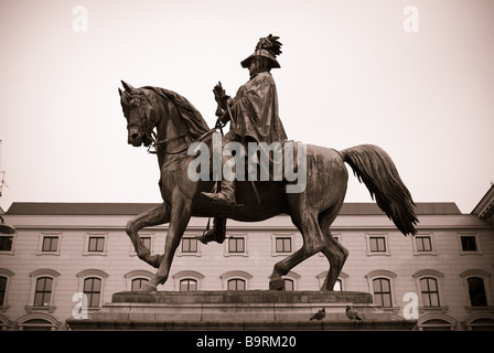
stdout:
MULTIPOLYGON (((167 281, 170 267, 191 216, 222 216, 201 196, 214 190, 215 181, 192 181, 189 164, 195 156, 187 154, 189 146, 202 141, 212 147, 212 132, 201 114, 181 95, 159 87, 135 88, 122 82, 120 103, 127 119, 128 143, 154 147, 161 171, 159 181, 163 203, 139 214, 127 223, 129 235, 140 259, 158 268, 142 291, 155 291, 167 281), (147 226, 169 223, 163 255, 151 255, 140 242, 138 232, 147 226)), ((377 205, 405 235, 417 233, 415 203, 402 183, 389 156, 379 147, 361 145, 342 151, 307 145, 307 186, 300 193, 287 193, 287 181, 256 182, 257 194, 249 181, 237 182, 236 208, 229 218, 256 222, 288 214, 303 237, 300 249, 277 263, 270 276, 269 289, 284 287, 282 276, 312 255, 322 252, 330 269, 322 291, 333 290, 348 256, 336 242, 330 226, 337 216, 346 193, 348 163, 361 182, 367 186, 377 205)))

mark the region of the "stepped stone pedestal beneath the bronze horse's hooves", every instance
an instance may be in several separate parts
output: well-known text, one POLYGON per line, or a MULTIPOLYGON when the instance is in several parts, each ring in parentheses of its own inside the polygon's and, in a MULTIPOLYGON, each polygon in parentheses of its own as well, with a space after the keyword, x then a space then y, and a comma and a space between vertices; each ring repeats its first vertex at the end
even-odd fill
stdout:
POLYGON ((396 331, 411 330, 415 323, 384 312, 365 292, 275 290, 118 292, 88 319, 67 320, 72 330, 165 331, 396 331), (347 304, 363 322, 346 318, 347 304), (310 321, 322 308, 325 318, 310 321))

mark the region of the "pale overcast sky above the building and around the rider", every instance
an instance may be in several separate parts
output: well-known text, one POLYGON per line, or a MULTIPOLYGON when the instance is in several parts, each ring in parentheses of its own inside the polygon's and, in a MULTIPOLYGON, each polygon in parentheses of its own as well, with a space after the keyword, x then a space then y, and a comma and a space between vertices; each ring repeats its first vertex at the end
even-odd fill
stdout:
MULTIPOLYGON (((212 127, 213 86, 235 95, 270 33, 290 139, 377 145, 416 202, 473 210, 494 182, 490 0, 0 0, 0 206, 161 202, 155 156, 127 145, 120 79, 175 90, 212 127)), ((345 202, 373 202, 352 173, 345 202)))

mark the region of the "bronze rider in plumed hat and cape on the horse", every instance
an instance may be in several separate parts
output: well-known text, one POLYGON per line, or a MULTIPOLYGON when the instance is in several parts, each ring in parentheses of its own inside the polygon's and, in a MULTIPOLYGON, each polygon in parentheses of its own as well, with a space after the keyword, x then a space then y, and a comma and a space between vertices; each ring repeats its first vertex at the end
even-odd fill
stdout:
MULTIPOLYGON (((249 69, 250 79, 243 85, 235 98, 225 95, 218 83, 214 87, 215 98, 222 108, 219 121, 230 121, 230 130, 223 138, 223 146, 232 141, 238 141, 244 146, 248 142, 284 142, 287 135, 278 115, 278 95, 271 68, 279 68, 280 64, 276 56, 281 54, 281 43, 278 36, 269 34, 261 38, 256 45, 255 52, 244 60, 241 67, 249 69)), ((222 157, 222 165, 230 157, 222 157)), ((237 207, 236 181, 223 178, 219 193, 203 192, 203 196, 214 204, 226 207, 227 212, 237 207)), ((226 217, 215 218, 213 231, 206 232, 201 242, 215 240, 223 243, 225 239, 226 217)))

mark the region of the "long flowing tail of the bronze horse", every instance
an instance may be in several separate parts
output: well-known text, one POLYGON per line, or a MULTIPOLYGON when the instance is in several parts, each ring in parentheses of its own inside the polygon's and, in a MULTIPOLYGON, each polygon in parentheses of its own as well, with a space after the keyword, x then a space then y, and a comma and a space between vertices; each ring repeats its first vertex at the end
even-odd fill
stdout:
POLYGON ((388 153, 377 146, 359 145, 341 151, 341 154, 397 228, 405 235, 416 235, 416 204, 388 153))

